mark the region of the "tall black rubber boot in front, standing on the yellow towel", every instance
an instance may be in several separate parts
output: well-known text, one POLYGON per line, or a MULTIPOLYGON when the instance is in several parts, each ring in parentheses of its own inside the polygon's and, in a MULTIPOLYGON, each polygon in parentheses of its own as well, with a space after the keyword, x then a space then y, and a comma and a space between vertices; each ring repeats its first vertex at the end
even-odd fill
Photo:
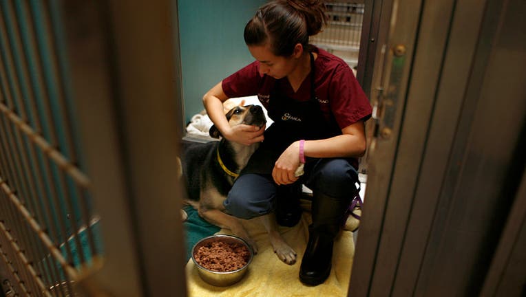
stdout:
POLYGON ((330 274, 334 239, 352 195, 337 199, 313 193, 313 223, 308 227, 308 243, 299 268, 299 279, 306 285, 319 285, 330 274))

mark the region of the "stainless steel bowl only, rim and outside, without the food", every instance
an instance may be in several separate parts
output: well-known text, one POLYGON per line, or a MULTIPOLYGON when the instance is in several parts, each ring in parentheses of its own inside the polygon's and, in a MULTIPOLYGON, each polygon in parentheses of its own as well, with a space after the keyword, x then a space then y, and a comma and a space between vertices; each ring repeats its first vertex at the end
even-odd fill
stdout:
POLYGON ((194 264, 196 264, 196 267, 198 268, 199 276, 202 278, 203 281, 209 283, 210 285, 215 285, 219 287, 226 287, 240 281, 241 278, 243 278, 243 276, 246 274, 246 271, 248 270, 249 265, 252 262, 253 256, 254 253, 252 251, 252 248, 248 243, 246 243, 246 241, 240 239, 238 236, 232 236, 227 234, 216 234, 205 237, 204 239, 198 241, 196 245, 193 245, 192 248, 192 261, 194 264), (249 260, 246 261, 246 264, 243 267, 241 267, 238 270, 233 270, 231 272, 214 272, 202 267, 201 265, 199 265, 199 263, 197 263, 193 255, 196 254, 199 248, 203 245, 207 245, 215 241, 222 241, 224 243, 241 243, 242 245, 246 246, 246 248, 249 250, 249 260))

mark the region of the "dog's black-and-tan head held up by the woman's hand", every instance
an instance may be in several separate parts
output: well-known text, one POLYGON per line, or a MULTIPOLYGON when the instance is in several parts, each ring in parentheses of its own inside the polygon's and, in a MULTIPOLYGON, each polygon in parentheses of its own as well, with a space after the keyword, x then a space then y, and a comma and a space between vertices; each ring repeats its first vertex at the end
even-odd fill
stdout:
MULTIPOLYGON (((262 127, 266 123, 265 114, 259 105, 238 105, 233 109, 230 109, 226 116, 230 126, 248 124, 251 126, 262 127)), ((210 136, 214 138, 219 138, 221 136, 219 130, 215 128, 215 125, 211 126, 209 133, 210 136)))

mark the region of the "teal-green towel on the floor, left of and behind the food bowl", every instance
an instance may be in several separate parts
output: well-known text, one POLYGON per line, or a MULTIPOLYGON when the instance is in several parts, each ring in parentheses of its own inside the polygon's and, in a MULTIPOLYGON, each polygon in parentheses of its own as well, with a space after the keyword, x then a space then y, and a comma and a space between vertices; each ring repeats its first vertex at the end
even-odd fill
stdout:
POLYGON ((206 236, 210 236, 219 232, 220 228, 216 225, 204 221, 199 217, 198 211, 193 209, 191 206, 183 208, 188 214, 188 219, 183 223, 185 228, 186 236, 186 250, 187 250, 187 261, 191 258, 191 250, 193 245, 196 245, 198 241, 206 236))

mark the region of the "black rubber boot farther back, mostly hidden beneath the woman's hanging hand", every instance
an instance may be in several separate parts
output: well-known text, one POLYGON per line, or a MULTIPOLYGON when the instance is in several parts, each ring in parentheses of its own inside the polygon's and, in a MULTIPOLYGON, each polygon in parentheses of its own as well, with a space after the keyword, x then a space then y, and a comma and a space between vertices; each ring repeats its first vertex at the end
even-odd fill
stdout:
POLYGON ((278 186, 276 193, 276 221, 278 225, 293 227, 302 217, 299 197, 302 194, 301 184, 278 186))

